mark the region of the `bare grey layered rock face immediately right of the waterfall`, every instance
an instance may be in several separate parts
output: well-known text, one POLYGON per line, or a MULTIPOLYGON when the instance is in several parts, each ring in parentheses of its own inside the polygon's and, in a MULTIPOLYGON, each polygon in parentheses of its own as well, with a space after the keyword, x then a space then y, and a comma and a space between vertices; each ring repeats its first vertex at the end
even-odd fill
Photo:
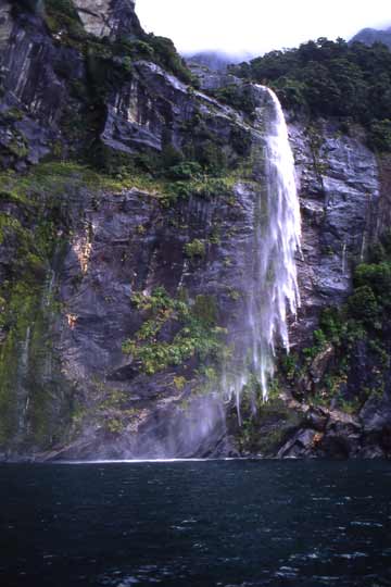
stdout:
POLYGON ((377 234, 380 174, 363 140, 341 136, 332 123, 292 124, 290 138, 303 218, 303 305, 293 340, 302 340, 317 326, 319 308, 340 304, 351 292, 353 264, 365 259, 377 234))

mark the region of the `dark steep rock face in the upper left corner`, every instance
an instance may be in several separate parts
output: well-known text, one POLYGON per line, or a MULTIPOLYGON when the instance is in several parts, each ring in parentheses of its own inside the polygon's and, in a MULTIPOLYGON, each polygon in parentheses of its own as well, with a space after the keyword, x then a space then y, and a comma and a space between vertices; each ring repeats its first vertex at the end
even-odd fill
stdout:
POLYGON ((55 45, 39 12, 15 12, 9 3, 1 10, 2 165, 23 168, 61 143, 61 118, 75 104, 60 68, 77 79, 84 66, 73 49, 55 45))

